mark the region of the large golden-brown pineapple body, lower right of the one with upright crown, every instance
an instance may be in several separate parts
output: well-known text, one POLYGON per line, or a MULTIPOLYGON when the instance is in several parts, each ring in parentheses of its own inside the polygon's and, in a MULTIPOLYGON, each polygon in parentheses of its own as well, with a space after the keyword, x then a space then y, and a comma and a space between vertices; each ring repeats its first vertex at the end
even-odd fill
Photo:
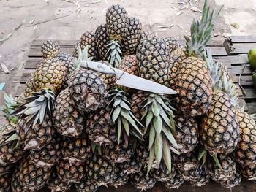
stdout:
POLYGON ((201 127, 201 143, 211 155, 228 154, 235 150, 239 125, 235 108, 226 93, 214 91, 201 127))

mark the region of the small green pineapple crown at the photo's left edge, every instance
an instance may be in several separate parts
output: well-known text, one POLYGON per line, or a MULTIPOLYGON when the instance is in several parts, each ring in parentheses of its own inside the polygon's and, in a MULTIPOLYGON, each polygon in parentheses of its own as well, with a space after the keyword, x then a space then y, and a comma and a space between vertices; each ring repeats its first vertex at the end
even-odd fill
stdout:
POLYGON ((18 107, 21 103, 20 101, 17 101, 15 98, 13 98, 12 95, 8 96, 7 93, 3 93, 4 98, 4 107, 0 107, 0 110, 4 112, 4 116, 7 118, 7 120, 11 123, 18 123, 18 117, 17 116, 9 116, 12 112, 15 111, 15 108, 18 107))

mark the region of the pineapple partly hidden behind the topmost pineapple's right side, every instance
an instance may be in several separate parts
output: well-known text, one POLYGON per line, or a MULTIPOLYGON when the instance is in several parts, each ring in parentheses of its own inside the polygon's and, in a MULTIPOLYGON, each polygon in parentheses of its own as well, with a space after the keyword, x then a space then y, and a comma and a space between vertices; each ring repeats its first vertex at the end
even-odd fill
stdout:
POLYGON ((129 18, 127 35, 124 37, 121 45, 124 55, 135 54, 138 43, 140 42, 141 31, 142 24, 140 20, 135 17, 129 18))

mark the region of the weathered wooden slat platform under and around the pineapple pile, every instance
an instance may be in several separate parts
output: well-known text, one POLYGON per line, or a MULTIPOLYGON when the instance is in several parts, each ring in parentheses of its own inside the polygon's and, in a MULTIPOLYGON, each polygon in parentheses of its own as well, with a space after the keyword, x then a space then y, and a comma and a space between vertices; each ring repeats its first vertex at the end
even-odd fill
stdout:
MULTIPOLYGON (((238 87, 238 77, 239 74, 241 73, 241 70, 244 68, 244 71, 241 74, 241 85, 244 87, 244 90, 246 91, 246 95, 244 95, 241 91, 241 88, 238 88, 239 90, 239 103, 241 105, 245 106, 245 110, 248 111, 249 113, 256 112, 256 90, 253 87, 253 82, 252 82, 252 68, 248 65, 248 59, 246 53, 248 50, 245 50, 245 47, 249 47, 251 45, 244 45, 249 42, 248 40, 249 37, 241 37, 239 39, 238 37, 230 37, 231 42, 236 41, 236 48, 234 49, 230 45, 227 45, 227 41, 225 41, 225 47, 224 46, 214 46, 210 45, 208 48, 211 50, 212 55, 214 58, 216 58, 219 61, 222 61, 223 64, 225 64, 230 72, 230 76, 233 79, 233 82, 236 83, 236 86, 238 87), (242 41, 244 39, 244 42, 242 41), (230 47, 228 47, 230 46, 230 47), (239 47, 239 48, 237 48, 239 47), (243 49, 241 47, 244 47, 243 49), (233 51, 232 51, 233 50, 233 51), (234 50, 239 50, 237 51, 238 53, 234 52, 234 50), (243 51, 242 51, 243 50, 243 51), (244 67, 245 66, 245 67, 244 67)), ((256 37, 253 37, 256 43, 256 37)), ((41 55, 41 45, 42 42, 45 40, 34 40, 32 43, 29 54, 26 59, 26 64, 24 65, 24 72, 20 77, 20 85, 18 85, 18 91, 15 94, 16 96, 19 96, 20 93, 24 90, 26 80, 30 77, 31 72, 34 72, 34 69, 36 68, 37 64, 39 64, 39 61, 42 60, 42 55, 41 55)), ((230 40, 229 40, 230 41, 230 40)), ((62 50, 67 53, 72 53, 72 50, 75 47, 76 41, 67 41, 67 40, 56 40, 56 42, 59 43, 61 46, 62 50)), ((244 180, 240 185, 236 186, 236 188, 233 188, 232 191, 256 191, 256 185, 252 183, 252 181, 244 180), (249 186, 249 188, 248 188, 249 186)), ((47 191, 47 189, 42 190, 42 191, 47 191)), ((72 191, 75 191, 73 189, 72 191)), ((103 191, 122 191, 122 192, 134 192, 136 191, 134 187, 131 185, 125 185, 121 188, 114 189, 114 188, 100 188, 99 192, 103 191)), ((170 191, 167 190, 163 185, 160 183, 157 183, 157 185, 151 190, 155 192, 162 192, 162 191, 170 191)), ((203 191, 208 191, 208 192, 215 192, 215 191, 221 191, 221 192, 226 192, 230 191, 230 189, 222 188, 220 185, 217 183, 211 182, 208 183, 208 185, 203 186, 203 188, 199 187, 193 187, 189 185, 189 183, 184 183, 184 185, 181 185, 181 188, 178 189, 172 189, 171 191, 177 191, 177 192, 187 192, 187 191, 198 191, 198 192, 203 192, 203 191)))

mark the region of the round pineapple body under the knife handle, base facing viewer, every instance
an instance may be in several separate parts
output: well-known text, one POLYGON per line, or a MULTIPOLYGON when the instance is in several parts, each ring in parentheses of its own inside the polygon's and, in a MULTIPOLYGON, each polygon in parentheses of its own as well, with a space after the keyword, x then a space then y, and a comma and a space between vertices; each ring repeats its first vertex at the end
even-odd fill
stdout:
POLYGON ((84 112, 104 107, 108 97, 104 80, 96 72, 87 69, 80 69, 72 74, 69 91, 75 101, 75 107, 84 112))

